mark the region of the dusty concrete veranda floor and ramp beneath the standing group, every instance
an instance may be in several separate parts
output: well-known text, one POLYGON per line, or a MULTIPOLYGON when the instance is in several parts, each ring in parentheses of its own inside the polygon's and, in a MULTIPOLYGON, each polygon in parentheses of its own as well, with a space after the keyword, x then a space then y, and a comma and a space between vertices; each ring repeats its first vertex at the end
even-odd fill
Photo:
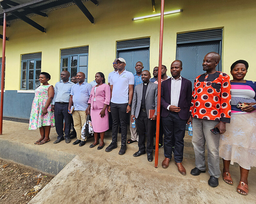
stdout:
MULTIPOLYGON (((39 130, 28 130, 26 123, 4 121, 0 138, 35 145, 39 130)), ((53 144, 57 139, 54 128, 51 128, 50 139, 49 143, 39 146, 77 156, 29 203, 256 203, 255 167, 249 173, 249 194, 243 196, 236 192, 240 179, 237 166, 230 166, 234 185, 226 184, 220 176, 219 186, 211 188, 207 172, 199 176, 190 174, 195 166, 193 159, 183 159, 187 171, 183 176, 173 159, 167 169, 162 168, 162 153, 158 168, 154 162, 147 161, 146 155, 133 157, 137 151, 135 145, 127 145, 126 154, 118 155, 119 146, 109 153, 105 148, 89 148, 93 139, 83 147, 72 145, 76 139, 70 144, 65 141, 53 144)), ((109 141, 107 137, 106 146, 109 141)))

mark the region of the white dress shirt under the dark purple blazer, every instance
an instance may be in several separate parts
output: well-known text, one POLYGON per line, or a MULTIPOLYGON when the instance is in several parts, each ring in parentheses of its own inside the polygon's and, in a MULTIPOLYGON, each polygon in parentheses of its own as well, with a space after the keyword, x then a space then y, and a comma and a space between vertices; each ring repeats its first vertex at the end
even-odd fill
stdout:
MULTIPOLYGON (((180 97, 180 89, 181 89, 181 76, 178 79, 174 79, 171 77, 171 105, 175 105, 178 107, 179 97, 180 97)), ((169 107, 167 106, 167 110, 169 107)))

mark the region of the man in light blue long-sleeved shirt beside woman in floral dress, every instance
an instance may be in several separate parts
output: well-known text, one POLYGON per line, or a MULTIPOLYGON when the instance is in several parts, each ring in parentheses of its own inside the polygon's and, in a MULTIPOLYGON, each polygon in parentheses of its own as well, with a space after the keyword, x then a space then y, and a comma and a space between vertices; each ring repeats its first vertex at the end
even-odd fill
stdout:
POLYGON ((54 97, 52 100, 52 111, 55 117, 55 129, 58 134, 57 140, 53 144, 59 143, 66 139, 66 143, 70 143, 71 116, 68 114, 68 102, 73 82, 69 81, 70 73, 63 71, 60 73, 61 81, 54 86, 54 97), (63 119, 65 121, 65 137, 63 133, 63 119))

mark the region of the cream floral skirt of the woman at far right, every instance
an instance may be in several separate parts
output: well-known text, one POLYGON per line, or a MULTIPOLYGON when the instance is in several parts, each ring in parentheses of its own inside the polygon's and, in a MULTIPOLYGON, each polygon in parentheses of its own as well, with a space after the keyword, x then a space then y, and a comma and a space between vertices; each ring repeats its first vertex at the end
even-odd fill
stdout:
POLYGON ((220 137, 220 157, 245 169, 256 166, 256 112, 231 114, 220 137))

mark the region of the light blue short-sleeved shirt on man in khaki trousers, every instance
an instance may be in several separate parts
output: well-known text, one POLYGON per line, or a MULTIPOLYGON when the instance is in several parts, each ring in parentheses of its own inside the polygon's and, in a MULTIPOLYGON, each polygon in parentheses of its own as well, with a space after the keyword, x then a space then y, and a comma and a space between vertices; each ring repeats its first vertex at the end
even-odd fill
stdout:
POLYGON ((92 86, 87 82, 79 83, 71 87, 70 95, 73 96, 73 106, 75 111, 85 111, 88 107, 88 101, 92 86))

